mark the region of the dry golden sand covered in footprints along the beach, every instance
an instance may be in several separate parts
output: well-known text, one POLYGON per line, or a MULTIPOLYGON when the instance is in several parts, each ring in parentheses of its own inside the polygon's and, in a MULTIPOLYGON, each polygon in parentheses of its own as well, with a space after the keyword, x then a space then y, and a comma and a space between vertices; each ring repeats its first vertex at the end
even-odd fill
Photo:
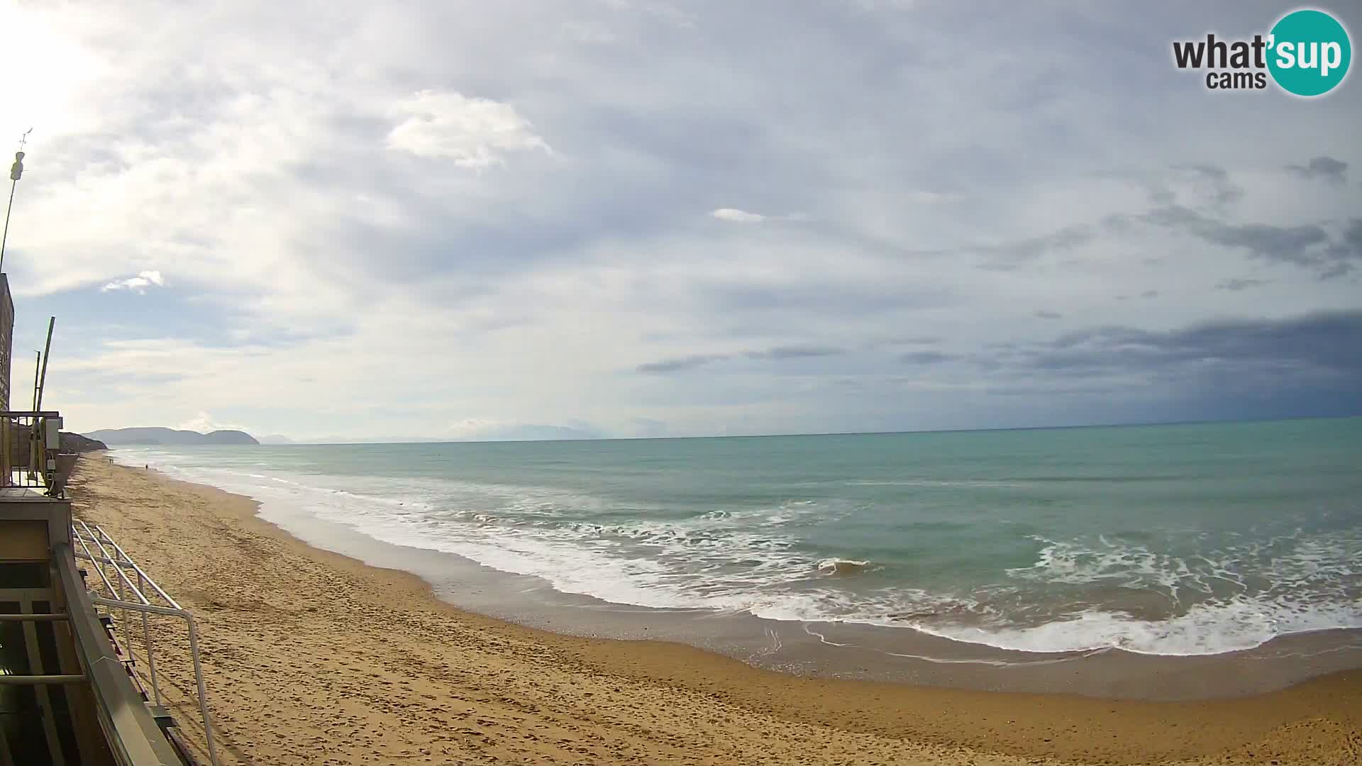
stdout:
MULTIPOLYGON (((1182 703, 805 679, 462 612, 247 497, 102 458, 71 492, 199 617, 223 763, 1362 762, 1362 672, 1182 703)), ((157 635, 202 740, 183 630, 157 635)))

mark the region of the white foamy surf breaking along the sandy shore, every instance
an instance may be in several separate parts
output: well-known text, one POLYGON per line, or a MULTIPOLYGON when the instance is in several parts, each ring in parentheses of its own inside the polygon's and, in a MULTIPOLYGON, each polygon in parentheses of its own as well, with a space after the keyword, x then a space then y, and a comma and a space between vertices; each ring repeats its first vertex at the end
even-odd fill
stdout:
POLYGON ((853 590, 864 578, 827 574, 865 572, 868 562, 817 556, 794 533, 846 508, 806 499, 667 519, 644 518, 654 515, 648 508, 617 512, 602 497, 548 487, 260 473, 259 465, 189 468, 174 453, 155 450, 127 459, 253 496, 266 514, 283 506, 375 540, 459 555, 618 604, 908 627, 1031 653, 1218 654, 1294 632, 1362 628, 1358 530, 1245 541, 1194 559, 1103 536, 1038 538, 1036 560, 1008 570, 1011 585, 997 593, 892 585, 853 590), (1032 590, 1020 590, 1027 586, 1032 590), (1056 586, 1156 593, 1171 609, 1159 619, 1100 604, 1043 619, 1035 609, 1015 611, 1016 598, 1056 586))

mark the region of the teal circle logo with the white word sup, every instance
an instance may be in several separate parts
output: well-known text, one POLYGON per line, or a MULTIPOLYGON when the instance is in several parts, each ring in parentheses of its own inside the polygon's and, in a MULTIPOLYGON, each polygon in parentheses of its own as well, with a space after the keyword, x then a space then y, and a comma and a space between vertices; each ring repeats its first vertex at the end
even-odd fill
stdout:
POLYGON ((1324 95, 1343 82, 1350 63, 1348 30, 1324 11, 1291 11, 1268 35, 1268 71, 1287 93, 1324 95))

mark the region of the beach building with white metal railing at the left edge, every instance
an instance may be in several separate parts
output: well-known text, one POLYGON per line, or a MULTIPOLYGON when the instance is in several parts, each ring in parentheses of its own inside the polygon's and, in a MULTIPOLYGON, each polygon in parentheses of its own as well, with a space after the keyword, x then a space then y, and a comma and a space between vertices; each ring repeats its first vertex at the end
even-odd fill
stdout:
POLYGON ((153 622, 187 623, 197 669, 193 617, 104 530, 74 522, 61 416, 10 409, 12 330, 0 274, 0 766, 195 765, 161 705, 151 641, 153 622))

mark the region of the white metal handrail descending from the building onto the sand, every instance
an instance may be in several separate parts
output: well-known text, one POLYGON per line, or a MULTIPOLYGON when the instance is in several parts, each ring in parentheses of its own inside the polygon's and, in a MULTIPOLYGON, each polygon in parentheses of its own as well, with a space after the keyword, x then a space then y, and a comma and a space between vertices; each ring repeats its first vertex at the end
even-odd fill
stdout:
MULTIPOLYGON (((121 593, 123 589, 120 587, 116 592, 113 583, 109 581, 108 577, 104 575, 102 571, 104 567, 99 566, 95 568, 99 570, 99 579, 104 581, 109 597, 98 596, 94 592, 90 592, 89 593, 90 602, 98 604, 101 607, 109 607, 112 609, 124 609, 129 612, 142 613, 142 630, 147 654, 147 667, 151 676, 151 690, 157 705, 161 705, 161 690, 157 680, 155 653, 151 647, 151 632, 150 628, 147 627, 147 615, 180 617, 185 622, 189 630, 189 657, 193 662, 193 679, 199 692, 199 713, 203 716, 203 735, 208 750, 208 761, 211 761, 212 766, 218 766, 218 750, 212 739, 212 717, 208 714, 208 692, 203 683, 203 665, 200 662, 200 654, 199 654, 199 627, 193 619, 193 615, 188 609, 180 607, 180 604, 174 598, 172 598, 165 592, 165 589, 162 589, 154 579, 151 579, 151 575, 143 571, 142 567, 132 560, 132 556, 129 556, 121 547, 118 547, 117 542, 113 541, 113 538, 109 537, 108 532, 101 529, 98 525, 95 525, 95 529, 99 530, 98 534, 95 534, 95 532, 90 529, 90 525, 87 525, 84 521, 80 519, 75 519, 75 523, 71 525, 72 536, 78 538, 80 547, 84 548, 86 551, 86 555, 80 557, 89 559, 91 562, 98 562, 101 564, 104 563, 113 564, 113 568, 118 574, 118 578, 121 581, 120 586, 125 583, 128 589, 132 590, 132 596, 136 597, 136 601, 129 601, 123 598, 121 593), (79 527, 76 525, 79 525, 79 527), (82 529, 84 534, 82 534, 82 529), (95 547, 99 548, 99 552, 104 553, 104 556, 95 557, 94 555, 90 553, 89 545, 86 545, 86 536, 89 536, 90 542, 94 542, 95 547), (118 557, 114 557, 109 553, 109 549, 104 547, 104 542, 101 542, 99 540, 101 537, 104 538, 105 542, 109 542, 109 545, 113 547, 118 557), (135 572, 138 572, 138 583, 133 583, 132 579, 128 578, 127 572, 124 572, 124 570, 128 567, 131 567, 135 572), (153 604, 142 592, 143 585, 150 585, 151 589, 168 604, 172 604, 172 607, 162 607, 159 604, 153 604)), ((132 652, 131 646, 128 647, 128 652, 131 654, 132 652)))

